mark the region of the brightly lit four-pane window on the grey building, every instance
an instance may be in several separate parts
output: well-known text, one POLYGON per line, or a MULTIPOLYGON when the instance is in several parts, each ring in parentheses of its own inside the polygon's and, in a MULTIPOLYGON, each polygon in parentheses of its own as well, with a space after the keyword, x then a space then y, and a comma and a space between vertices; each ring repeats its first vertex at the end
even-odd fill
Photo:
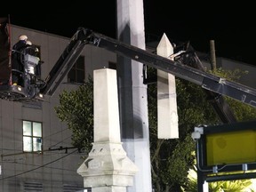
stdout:
POLYGON ((23 151, 42 151, 42 123, 23 121, 23 151))

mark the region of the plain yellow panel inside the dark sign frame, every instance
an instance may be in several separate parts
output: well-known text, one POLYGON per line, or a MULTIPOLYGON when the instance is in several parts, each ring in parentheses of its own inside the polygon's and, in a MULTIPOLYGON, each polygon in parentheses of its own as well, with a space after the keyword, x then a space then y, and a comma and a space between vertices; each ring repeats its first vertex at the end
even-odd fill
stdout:
POLYGON ((207 165, 256 162, 256 132, 243 130, 206 135, 207 165))

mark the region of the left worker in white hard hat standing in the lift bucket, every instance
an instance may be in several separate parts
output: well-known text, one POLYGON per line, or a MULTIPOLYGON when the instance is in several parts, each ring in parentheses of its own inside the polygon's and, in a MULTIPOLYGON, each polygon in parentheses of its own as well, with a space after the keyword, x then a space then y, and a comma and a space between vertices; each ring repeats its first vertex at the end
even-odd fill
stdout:
MULTIPOLYGON (((31 44, 31 42, 30 42, 31 44)), ((19 36, 19 41, 12 46, 12 85, 22 85, 24 66, 21 62, 21 51, 29 45, 28 36, 19 36)))

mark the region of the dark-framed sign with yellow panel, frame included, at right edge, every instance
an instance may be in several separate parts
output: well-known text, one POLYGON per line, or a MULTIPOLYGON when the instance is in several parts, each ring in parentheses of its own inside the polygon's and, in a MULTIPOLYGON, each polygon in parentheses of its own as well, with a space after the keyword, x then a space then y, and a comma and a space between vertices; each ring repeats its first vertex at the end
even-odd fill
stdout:
POLYGON ((197 166, 202 172, 256 170, 256 122, 196 127, 197 166))

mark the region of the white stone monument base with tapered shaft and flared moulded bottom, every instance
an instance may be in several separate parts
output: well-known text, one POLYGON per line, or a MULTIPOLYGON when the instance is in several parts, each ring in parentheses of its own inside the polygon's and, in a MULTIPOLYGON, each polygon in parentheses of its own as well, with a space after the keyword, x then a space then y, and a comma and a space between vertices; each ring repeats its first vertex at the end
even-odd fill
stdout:
POLYGON ((120 141, 116 70, 93 72, 93 105, 93 147, 77 172, 92 192, 126 192, 138 168, 120 141))

